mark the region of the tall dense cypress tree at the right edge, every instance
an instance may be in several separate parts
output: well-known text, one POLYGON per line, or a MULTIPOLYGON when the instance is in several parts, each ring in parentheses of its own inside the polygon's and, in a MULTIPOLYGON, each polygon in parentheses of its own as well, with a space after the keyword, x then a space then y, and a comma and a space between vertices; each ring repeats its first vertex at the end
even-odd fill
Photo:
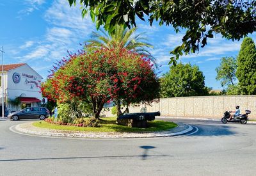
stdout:
POLYGON ((252 38, 244 38, 241 44, 236 76, 241 94, 256 94, 256 48, 252 38))

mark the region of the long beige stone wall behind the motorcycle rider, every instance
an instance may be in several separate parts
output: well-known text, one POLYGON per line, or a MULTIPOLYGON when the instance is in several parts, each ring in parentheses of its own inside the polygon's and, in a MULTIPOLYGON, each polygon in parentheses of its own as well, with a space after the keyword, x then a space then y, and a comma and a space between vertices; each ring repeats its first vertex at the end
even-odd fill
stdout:
POLYGON ((252 113, 249 118, 256 118, 256 95, 167 98, 160 99, 151 106, 132 106, 129 111, 138 113, 141 108, 146 107, 147 112, 160 111, 161 116, 220 118, 225 111, 233 111, 236 105, 240 106, 241 113, 250 109, 252 113))

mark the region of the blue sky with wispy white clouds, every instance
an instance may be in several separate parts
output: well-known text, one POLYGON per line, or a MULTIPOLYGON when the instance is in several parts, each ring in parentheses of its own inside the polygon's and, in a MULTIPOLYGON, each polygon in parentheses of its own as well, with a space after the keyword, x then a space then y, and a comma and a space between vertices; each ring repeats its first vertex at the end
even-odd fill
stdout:
MULTIPOLYGON (((46 78, 53 62, 76 52, 80 43, 90 38, 95 26, 90 16, 81 18, 79 6, 72 7, 65 0, 12 0, 0 2, 0 46, 4 46, 4 64, 28 63, 46 78)), ((176 34, 170 26, 152 27, 138 20, 138 32, 145 32, 148 42, 154 45, 152 54, 162 65, 157 72, 168 72, 169 52, 180 44, 182 34, 176 34)), ((256 42, 256 35, 250 35, 256 42)), ((232 42, 220 35, 208 40, 200 52, 182 56, 183 63, 198 65, 205 76, 205 85, 221 89, 215 80, 215 68, 224 56, 236 57, 242 40, 232 42)), ((159 74, 159 75, 161 75, 159 74)))

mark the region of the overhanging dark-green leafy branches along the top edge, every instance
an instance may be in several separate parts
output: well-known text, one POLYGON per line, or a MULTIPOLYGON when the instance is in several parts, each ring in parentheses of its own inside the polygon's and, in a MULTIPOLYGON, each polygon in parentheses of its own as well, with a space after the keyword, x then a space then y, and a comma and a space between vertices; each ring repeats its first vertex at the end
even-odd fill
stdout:
MULTIPOLYGON (((70 6, 76 4, 76 0, 68 1, 70 6)), ((136 17, 145 20, 145 15, 150 25, 154 21, 159 25, 172 25, 177 33, 187 29, 182 45, 170 52, 173 64, 182 54, 199 51, 214 33, 220 33, 228 40, 239 40, 256 30, 256 1, 252 0, 80 0, 80 3, 83 17, 90 12, 96 28, 103 25, 109 33, 115 33, 116 25, 136 27, 136 17)))

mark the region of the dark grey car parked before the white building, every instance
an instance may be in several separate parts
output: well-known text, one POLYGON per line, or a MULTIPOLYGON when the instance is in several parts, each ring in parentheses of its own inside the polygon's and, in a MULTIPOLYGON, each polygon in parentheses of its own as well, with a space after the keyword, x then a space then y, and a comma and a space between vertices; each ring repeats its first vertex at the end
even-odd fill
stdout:
POLYGON ((40 120, 44 120, 49 116, 50 111, 44 107, 28 107, 14 113, 10 113, 8 118, 14 121, 22 118, 39 118, 40 120))

